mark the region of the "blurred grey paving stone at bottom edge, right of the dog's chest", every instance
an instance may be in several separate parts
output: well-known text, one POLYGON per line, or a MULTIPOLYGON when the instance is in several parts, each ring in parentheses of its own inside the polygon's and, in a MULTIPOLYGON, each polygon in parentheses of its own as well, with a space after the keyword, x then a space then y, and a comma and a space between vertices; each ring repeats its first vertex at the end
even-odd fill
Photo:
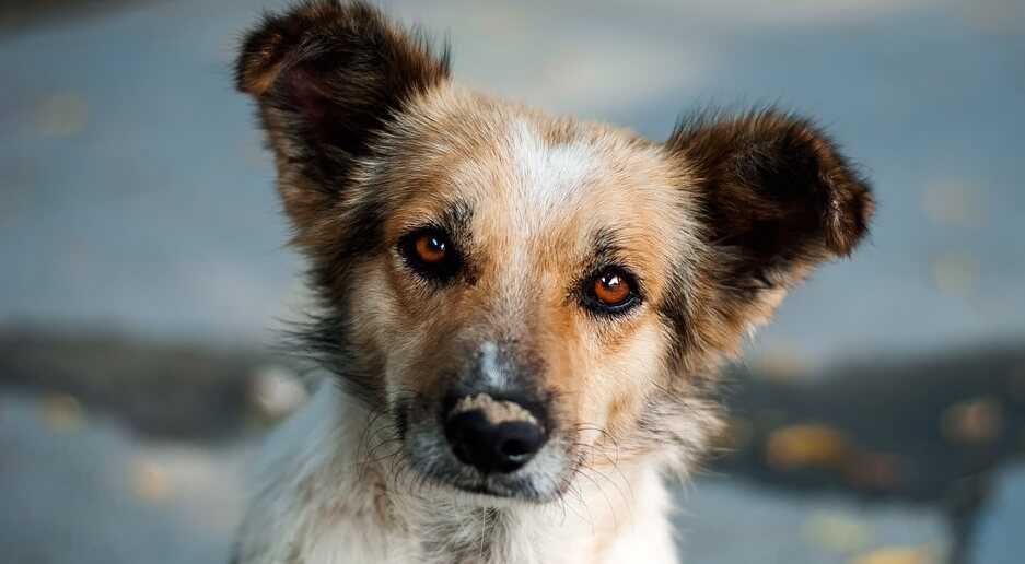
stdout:
POLYGON ((945 516, 929 506, 794 496, 723 478, 697 481, 678 504, 684 562, 939 563, 951 549, 945 516))

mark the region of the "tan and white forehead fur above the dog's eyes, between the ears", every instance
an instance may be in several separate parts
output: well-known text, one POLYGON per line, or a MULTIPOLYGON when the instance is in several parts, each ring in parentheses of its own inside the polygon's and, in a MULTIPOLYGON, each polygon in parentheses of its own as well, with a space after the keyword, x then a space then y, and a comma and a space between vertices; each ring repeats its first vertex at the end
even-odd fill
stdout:
POLYGON ((459 208, 475 238, 521 248, 584 252, 604 237, 653 254, 686 238, 682 167, 631 132, 451 95, 421 103, 404 129, 404 168, 423 181, 401 198, 397 231, 459 208))

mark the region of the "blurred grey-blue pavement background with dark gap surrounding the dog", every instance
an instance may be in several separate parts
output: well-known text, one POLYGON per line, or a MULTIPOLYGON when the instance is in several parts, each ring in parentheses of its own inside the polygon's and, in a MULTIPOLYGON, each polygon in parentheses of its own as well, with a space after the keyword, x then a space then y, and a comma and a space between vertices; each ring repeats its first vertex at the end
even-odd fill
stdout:
MULTIPOLYGON (((240 33, 278 0, 0 2, 0 561, 220 563, 305 399, 240 33)), ((470 85, 664 138, 817 117, 874 183, 724 386, 689 562, 1025 562, 1025 2, 381 2, 470 85), (1014 547, 1012 548, 1012 544, 1014 547)))

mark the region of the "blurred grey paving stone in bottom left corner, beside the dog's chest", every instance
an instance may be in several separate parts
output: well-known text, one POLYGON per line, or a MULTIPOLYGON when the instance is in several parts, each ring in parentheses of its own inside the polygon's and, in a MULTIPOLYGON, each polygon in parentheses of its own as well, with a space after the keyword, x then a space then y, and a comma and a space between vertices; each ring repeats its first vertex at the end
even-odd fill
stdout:
POLYGON ((0 562, 228 561, 247 446, 148 440, 54 401, 0 393, 0 562))

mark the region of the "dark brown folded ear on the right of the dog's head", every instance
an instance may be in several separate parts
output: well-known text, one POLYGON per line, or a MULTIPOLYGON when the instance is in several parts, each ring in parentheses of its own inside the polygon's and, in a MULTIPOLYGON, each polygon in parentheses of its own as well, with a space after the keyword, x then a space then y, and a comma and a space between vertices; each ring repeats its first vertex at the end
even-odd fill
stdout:
POLYGON ((699 118, 666 146, 697 183, 714 324, 742 330, 765 320, 811 267, 849 255, 867 232, 869 186, 805 119, 699 118))

